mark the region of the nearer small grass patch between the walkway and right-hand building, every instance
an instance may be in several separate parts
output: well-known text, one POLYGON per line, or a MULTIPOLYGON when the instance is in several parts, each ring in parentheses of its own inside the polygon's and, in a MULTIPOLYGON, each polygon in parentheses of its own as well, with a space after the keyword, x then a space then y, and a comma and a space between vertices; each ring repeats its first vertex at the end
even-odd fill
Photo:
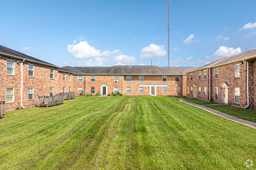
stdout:
POLYGON ((248 121, 256 122, 256 110, 253 109, 243 109, 235 106, 229 106, 225 104, 221 105, 205 105, 208 108, 213 108, 215 110, 219 110, 223 113, 227 113, 232 116, 236 116, 241 119, 245 119, 248 121))

